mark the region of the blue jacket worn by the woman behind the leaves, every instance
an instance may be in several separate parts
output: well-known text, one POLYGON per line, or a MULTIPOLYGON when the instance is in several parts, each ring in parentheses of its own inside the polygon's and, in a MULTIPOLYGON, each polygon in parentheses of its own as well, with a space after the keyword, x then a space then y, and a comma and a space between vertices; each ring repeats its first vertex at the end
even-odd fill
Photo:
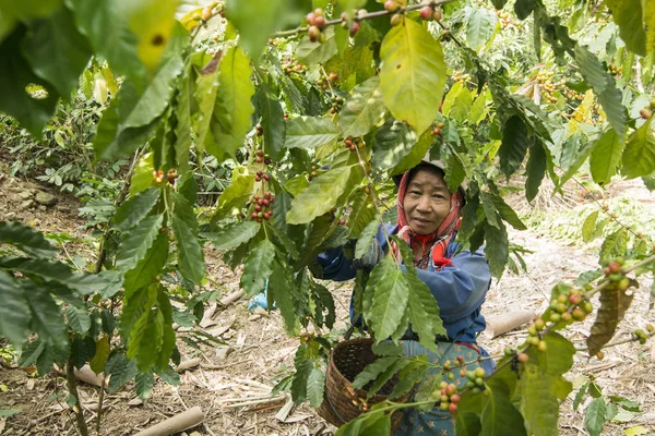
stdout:
MULTIPOLYGON (((397 226, 385 225, 384 227, 390 234, 395 234, 398 230, 397 226)), ((388 252, 382 227, 376 239, 384 252, 388 252)), ((436 271, 430 264, 428 269, 416 271, 439 303, 441 319, 449 339, 474 343, 477 334, 486 327, 480 306, 491 284, 491 272, 481 250, 473 254, 462 251, 453 256, 460 245, 457 242, 451 242, 448 246, 445 257, 451 258, 452 267, 443 267, 440 271, 436 271)), ((323 279, 342 281, 355 278, 353 259, 346 257, 341 247, 321 253, 318 262, 323 268, 323 279)), ((350 302, 352 322, 353 317, 354 310, 350 302)))

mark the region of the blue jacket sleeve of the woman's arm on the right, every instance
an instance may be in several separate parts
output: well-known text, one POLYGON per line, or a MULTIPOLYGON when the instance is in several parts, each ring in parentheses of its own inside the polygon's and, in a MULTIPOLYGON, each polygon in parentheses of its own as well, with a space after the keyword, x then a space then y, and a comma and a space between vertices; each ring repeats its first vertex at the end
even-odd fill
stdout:
POLYGON ((489 264, 483 253, 465 251, 451 261, 452 267, 439 271, 416 270, 437 299, 444 322, 454 322, 475 312, 485 301, 491 283, 489 264))

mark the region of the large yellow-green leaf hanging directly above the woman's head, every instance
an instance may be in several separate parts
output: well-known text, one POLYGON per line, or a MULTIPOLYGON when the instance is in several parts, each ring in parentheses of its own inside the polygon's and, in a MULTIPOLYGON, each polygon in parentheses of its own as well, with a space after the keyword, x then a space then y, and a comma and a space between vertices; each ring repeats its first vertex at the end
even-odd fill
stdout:
POLYGON ((445 86, 441 44, 421 24, 405 20, 380 48, 380 89, 397 120, 422 133, 434 120, 445 86))

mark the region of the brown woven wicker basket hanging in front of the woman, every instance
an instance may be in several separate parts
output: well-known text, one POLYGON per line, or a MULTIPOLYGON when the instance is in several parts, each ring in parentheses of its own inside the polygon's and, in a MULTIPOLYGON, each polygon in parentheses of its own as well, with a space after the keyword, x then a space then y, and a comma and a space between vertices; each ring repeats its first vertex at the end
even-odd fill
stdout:
MULTIPOLYGON (((373 339, 358 338, 340 342, 332 349, 325 375, 325 395, 317 412, 337 427, 359 416, 371 405, 386 400, 397 380, 397 376, 394 376, 368 401, 366 390, 353 388, 355 377, 378 359, 371 349, 373 343, 373 339)), ((395 401, 405 402, 408 398, 409 393, 405 393, 395 401)), ((402 419, 400 411, 391 416, 392 434, 401 425, 402 419)))

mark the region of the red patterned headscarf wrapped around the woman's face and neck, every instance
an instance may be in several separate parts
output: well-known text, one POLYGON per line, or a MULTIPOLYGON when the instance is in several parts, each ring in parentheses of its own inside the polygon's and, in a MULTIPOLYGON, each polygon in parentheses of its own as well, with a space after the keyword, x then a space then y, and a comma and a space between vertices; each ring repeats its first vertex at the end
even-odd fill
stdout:
MULTIPOLYGON (((407 184, 409 183, 409 173, 412 170, 406 171, 403 174, 401 184, 398 185, 398 199, 397 199, 397 215, 398 215, 398 237, 402 238, 412 250, 420 247, 419 255, 414 257, 414 265, 420 269, 427 269, 430 261, 434 264, 437 270, 444 266, 452 266, 450 258, 445 257, 445 251, 448 244, 452 241, 453 235, 460 228, 461 219, 460 214, 462 206, 464 205, 464 196, 460 190, 451 195, 451 208, 443 222, 439 226, 437 231, 430 234, 417 234, 412 230, 407 223, 405 217, 405 208, 403 203, 405 202, 405 194, 407 193, 407 184), (430 259, 430 252, 432 253, 430 259)), ((395 243, 392 243, 392 250, 394 257, 397 259, 398 247, 395 243)))

